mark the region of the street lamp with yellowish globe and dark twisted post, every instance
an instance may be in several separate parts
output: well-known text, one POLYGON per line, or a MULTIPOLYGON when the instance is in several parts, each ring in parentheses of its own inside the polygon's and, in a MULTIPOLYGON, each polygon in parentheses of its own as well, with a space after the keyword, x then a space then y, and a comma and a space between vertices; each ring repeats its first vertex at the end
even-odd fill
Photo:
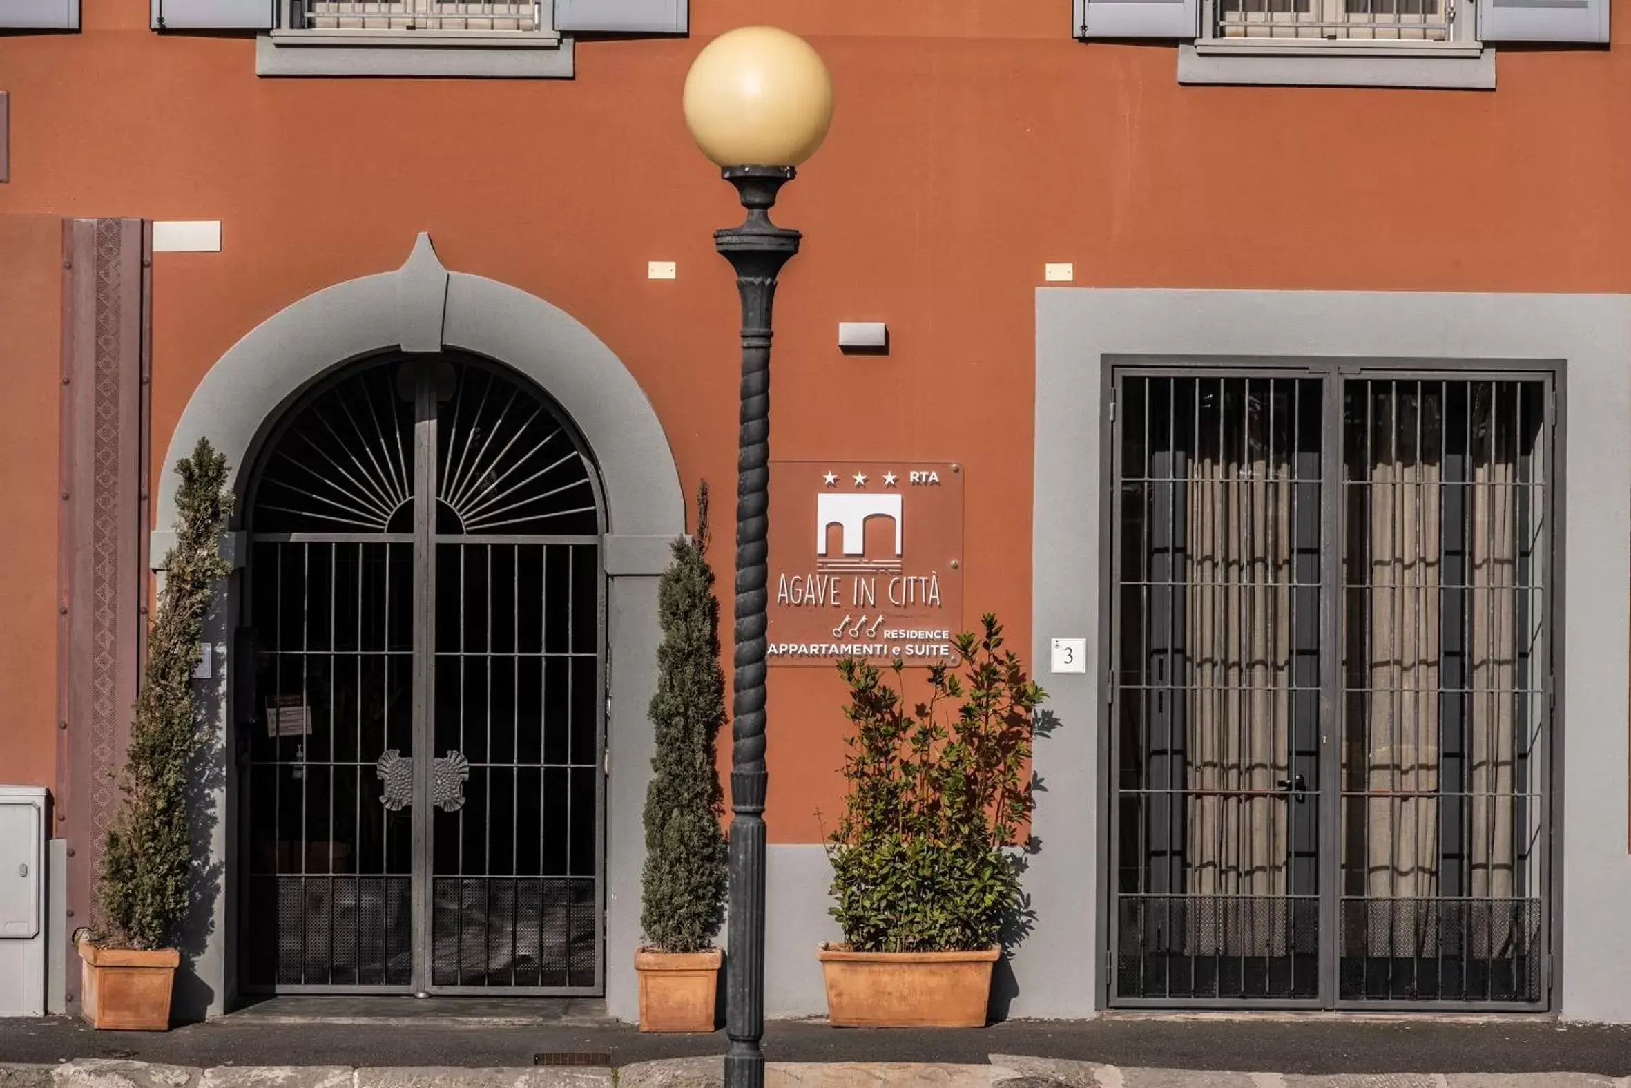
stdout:
POLYGON ((731 922, 726 1088, 763 1088, 765 1054, 765 537, 770 527, 770 308, 799 232, 770 222, 776 191, 820 147, 832 78, 809 44, 744 26, 685 77, 685 124, 736 186, 747 219, 714 232, 742 295, 742 411, 736 458, 736 669, 731 711, 731 922))

